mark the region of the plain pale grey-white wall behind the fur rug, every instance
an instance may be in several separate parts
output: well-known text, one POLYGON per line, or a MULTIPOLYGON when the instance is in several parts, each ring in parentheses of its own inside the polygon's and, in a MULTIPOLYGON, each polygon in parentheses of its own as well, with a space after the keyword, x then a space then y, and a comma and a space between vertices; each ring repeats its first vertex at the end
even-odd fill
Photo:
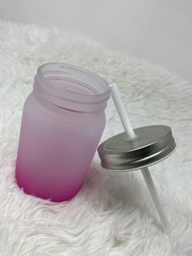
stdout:
POLYGON ((192 81, 191 0, 0 0, 0 19, 83 33, 192 81))

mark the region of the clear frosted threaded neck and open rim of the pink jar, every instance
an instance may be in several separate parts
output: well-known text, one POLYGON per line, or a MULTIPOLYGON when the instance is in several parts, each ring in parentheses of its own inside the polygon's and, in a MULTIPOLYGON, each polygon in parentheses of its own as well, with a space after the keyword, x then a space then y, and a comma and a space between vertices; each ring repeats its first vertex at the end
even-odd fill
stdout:
POLYGON ((104 110, 110 90, 98 75, 71 64, 47 63, 37 69, 33 90, 49 104, 76 112, 104 110))

